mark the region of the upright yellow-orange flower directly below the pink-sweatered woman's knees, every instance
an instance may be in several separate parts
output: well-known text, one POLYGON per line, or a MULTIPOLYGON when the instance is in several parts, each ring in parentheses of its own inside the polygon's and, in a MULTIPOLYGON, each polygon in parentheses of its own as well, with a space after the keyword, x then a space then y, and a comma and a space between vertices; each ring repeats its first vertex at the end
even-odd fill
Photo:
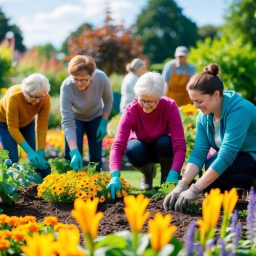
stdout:
POLYGON ((150 199, 140 194, 136 198, 134 196, 124 197, 124 212, 126 218, 133 231, 140 232, 144 222, 150 216, 150 212, 146 211, 146 207, 150 199))

